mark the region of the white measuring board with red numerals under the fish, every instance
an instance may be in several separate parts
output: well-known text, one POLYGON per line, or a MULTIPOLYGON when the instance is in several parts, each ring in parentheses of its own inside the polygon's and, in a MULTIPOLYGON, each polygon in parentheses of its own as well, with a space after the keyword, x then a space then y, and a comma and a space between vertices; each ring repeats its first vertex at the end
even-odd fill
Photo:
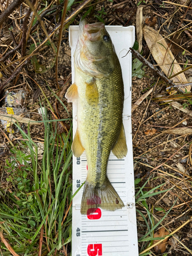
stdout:
MULTIPOLYGON (((127 54, 135 41, 135 27, 105 26, 115 46, 121 64, 124 82, 123 124, 128 153, 117 159, 112 153, 107 175, 125 207, 106 211, 98 208, 94 214, 81 215, 80 204, 83 187, 73 199, 72 256, 137 256, 137 225, 134 193, 131 84, 132 55, 127 54), (126 55, 127 54, 127 55, 126 55), (126 56, 125 56, 126 55, 126 56), (122 58, 125 56, 124 58, 122 58)), ((69 27, 69 42, 72 56, 72 83, 74 82, 74 52, 78 40, 78 26, 69 27)), ((73 103, 73 136, 77 129, 77 104, 73 103)), ((73 156, 73 194, 87 178, 87 160, 73 156)))

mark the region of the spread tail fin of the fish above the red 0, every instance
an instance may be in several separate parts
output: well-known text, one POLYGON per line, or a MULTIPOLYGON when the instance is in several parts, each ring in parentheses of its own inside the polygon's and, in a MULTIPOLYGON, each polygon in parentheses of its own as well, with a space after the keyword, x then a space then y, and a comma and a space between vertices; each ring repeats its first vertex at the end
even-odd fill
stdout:
POLYGON ((124 207, 122 200, 108 178, 106 178, 106 181, 100 187, 94 187, 88 181, 84 184, 81 214, 86 215, 88 209, 98 207, 111 211, 124 207))

